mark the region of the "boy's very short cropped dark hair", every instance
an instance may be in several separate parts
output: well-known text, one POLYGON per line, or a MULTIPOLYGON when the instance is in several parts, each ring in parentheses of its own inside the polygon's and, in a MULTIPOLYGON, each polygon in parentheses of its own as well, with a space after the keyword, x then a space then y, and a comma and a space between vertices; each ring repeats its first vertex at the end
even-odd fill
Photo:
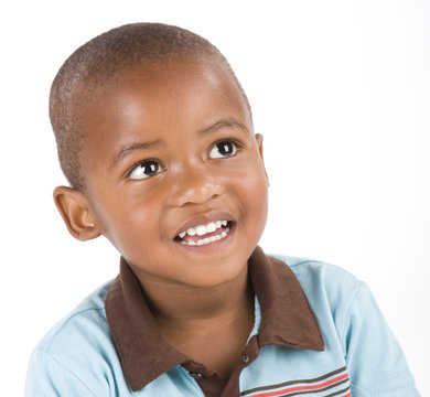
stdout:
POLYGON ((245 92, 224 55, 207 40, 178 26, 126 24, 88 41, 65 61, 52 83, 50 118, 60 164, 73 187, 83 189, 85 185, 79 161, 85 132, 79 128, 78 114, 96 88, 126 67, 184 56, 209 58, 226 66, 250 112, 245 92))

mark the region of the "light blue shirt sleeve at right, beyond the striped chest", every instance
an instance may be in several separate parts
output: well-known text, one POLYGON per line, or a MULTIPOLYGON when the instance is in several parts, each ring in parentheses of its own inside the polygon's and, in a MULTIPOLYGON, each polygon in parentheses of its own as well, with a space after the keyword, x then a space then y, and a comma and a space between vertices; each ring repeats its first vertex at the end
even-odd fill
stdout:
POLYGON ((420 396, 405 355, 365 283, 350 304, 342 343, 353 397, 420 396))

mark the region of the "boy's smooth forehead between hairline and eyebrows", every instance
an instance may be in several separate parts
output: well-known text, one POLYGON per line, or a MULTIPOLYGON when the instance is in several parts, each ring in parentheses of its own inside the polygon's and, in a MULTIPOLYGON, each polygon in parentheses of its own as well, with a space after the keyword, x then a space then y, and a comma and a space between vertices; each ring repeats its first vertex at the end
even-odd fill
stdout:
MULTIPOLYGON (((96 88, 93 99, 87 101, 85 129, 89 140, 94 141, 93 138, 100 138, 95 130, 106 133, 115 130, 117 138, 129 139, 132 133, 125 131, 136 130, 137 119, 138 127, 143 127, 143 130, 147 126, 142 120, 159 120, 169 126, 166 119, 183 114, 189 115, 190 122, 193 122, 195 118, 191 110, 201 108, 202 98, 216 98, 216 106, 205 109, 214 114, 214 122, 216 117, 236 111, 241 114, 240 121, 251 129, 247 103, 232 72, 219 62, 195 58, 146 63, 117 72, 96 88)), ((187 121, 186 117, 182 119, 187 121)), ((201 127, 207 126, 202 124, 201 127)))

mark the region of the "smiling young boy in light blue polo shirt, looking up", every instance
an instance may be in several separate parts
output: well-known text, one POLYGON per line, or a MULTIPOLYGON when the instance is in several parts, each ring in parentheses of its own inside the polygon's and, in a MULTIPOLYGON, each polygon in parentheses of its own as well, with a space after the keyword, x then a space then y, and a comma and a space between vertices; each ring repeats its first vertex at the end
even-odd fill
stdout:
POLYGON ((418 396, 363 282, 269 257, 262 137, 224 56, 125 25, 60 69, 50 116, 69 230, 120 273, 34 351, 26 396, 418 396))

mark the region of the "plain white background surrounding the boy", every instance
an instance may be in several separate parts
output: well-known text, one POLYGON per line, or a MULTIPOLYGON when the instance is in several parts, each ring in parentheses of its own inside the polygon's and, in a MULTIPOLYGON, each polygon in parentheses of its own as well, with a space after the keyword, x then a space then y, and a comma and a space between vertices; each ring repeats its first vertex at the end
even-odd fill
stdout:
POLYGON ((47 118, 50 84, 80 44, 136 21, 178 24, 232 63, 265 135, 269 253, 331 261, 373 289, 430 396, 430 2, 14 1, 1 10, 2 395, 31 350, 117 273, 99 238, 68 236, 47 118))

